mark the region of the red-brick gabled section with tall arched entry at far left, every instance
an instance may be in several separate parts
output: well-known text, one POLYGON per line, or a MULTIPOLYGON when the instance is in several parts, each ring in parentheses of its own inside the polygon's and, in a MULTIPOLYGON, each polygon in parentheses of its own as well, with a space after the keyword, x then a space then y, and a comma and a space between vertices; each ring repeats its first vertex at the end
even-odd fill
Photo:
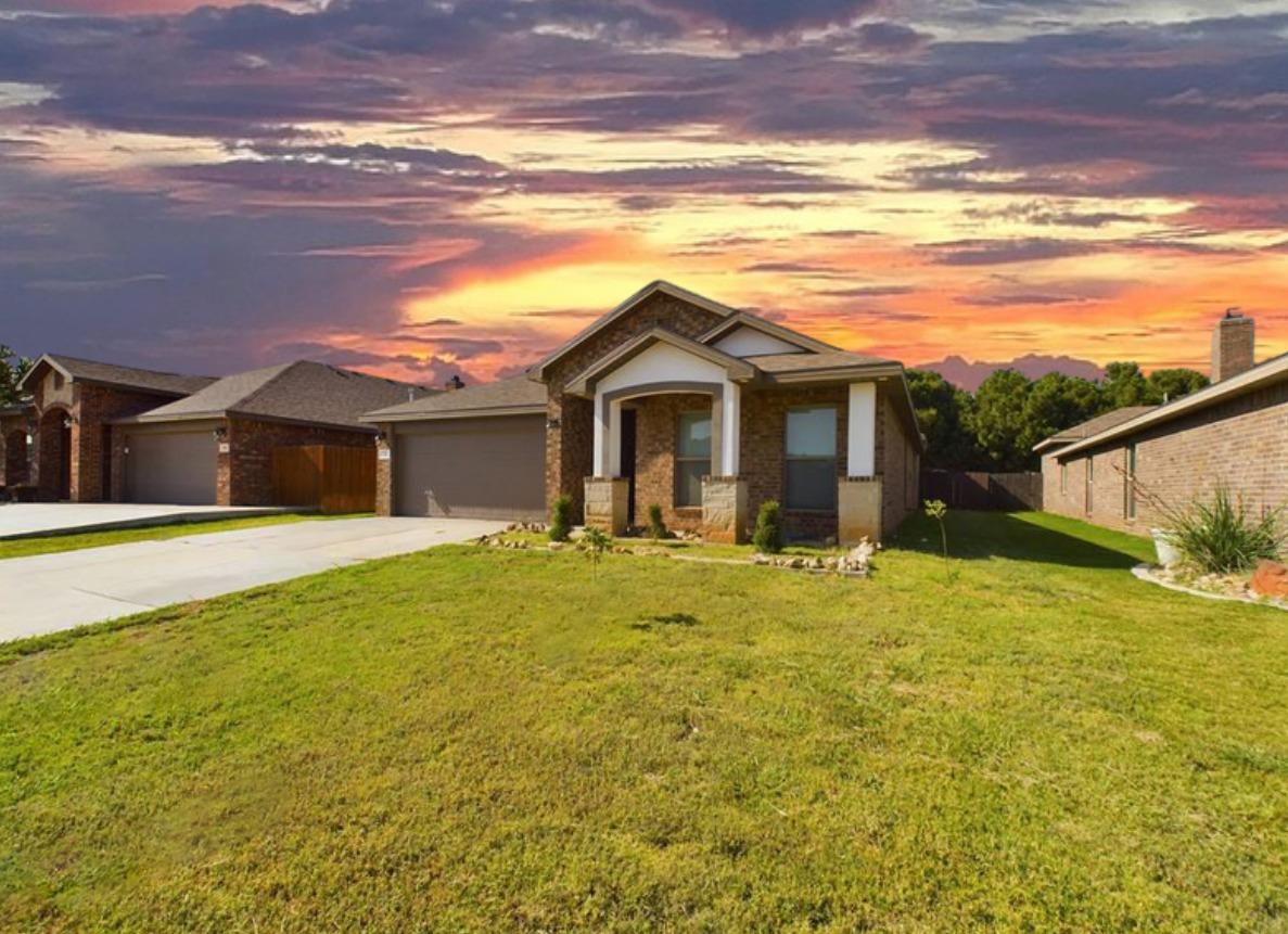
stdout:
MULTIPOLYGON (((106 499, 112 482, 112 420, 166 405, 213 381, 209 376, 45 354, 19 384, 32 397, 26 482, 36 486, 43 500, 106 499)), ((8 429, 6 460, 10 442, 15 446, 17 441, 14 429, 8 429)))

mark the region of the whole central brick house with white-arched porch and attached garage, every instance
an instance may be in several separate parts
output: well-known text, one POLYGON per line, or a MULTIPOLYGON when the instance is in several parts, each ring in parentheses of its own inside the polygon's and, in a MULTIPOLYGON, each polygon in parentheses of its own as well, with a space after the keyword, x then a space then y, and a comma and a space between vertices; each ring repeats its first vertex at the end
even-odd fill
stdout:
POLYGON ((540 518, 567 495, 621 532, 742 541, 778 500, 788 535, 893 532, 922 438, 895 361, 848 353, 653 282, 524 375, 371 412, 377 511, 540 518))

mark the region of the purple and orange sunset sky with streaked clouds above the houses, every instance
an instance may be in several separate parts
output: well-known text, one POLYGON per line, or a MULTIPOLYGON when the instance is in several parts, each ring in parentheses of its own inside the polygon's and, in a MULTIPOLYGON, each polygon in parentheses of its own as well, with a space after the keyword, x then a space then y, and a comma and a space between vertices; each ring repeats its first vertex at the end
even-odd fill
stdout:
POLYGON ((1206 370, 1288 350, 1285 228, 1288 0, 0 0, 27 354, 482 380, 667 278, 1206 370))

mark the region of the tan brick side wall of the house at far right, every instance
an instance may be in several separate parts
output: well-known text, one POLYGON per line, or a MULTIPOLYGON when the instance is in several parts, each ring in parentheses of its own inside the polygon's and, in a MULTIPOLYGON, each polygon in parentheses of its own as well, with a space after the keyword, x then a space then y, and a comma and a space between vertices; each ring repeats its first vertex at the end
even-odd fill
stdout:
MULTIPOLYGON (((1209 495, 1221 481, 1252 509, 1288 505, 1288 381, 1141 432, 1135 442, 1139 483, 1173 506, 1209 495)), ((1137 496, 1136 518, 1127 518, 1127 481, 1114 469, 1126 470, 1127 439, 1090 456, 1092 511, 1086 509, 1086 453, 1066 459, 1063 492, 1059 452, 1042 459, 1043 508, 1148 533, 1159 517, 1137 496)))

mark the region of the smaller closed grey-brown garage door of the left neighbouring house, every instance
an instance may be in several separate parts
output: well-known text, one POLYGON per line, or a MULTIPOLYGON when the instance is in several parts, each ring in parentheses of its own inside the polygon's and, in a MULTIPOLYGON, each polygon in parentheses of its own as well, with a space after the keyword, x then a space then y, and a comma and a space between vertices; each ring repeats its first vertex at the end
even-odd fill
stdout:
POLYGON ((125 499, 130 502, 215 502, 216 443, 200 432, 139 432, 125 446, 125 499))

